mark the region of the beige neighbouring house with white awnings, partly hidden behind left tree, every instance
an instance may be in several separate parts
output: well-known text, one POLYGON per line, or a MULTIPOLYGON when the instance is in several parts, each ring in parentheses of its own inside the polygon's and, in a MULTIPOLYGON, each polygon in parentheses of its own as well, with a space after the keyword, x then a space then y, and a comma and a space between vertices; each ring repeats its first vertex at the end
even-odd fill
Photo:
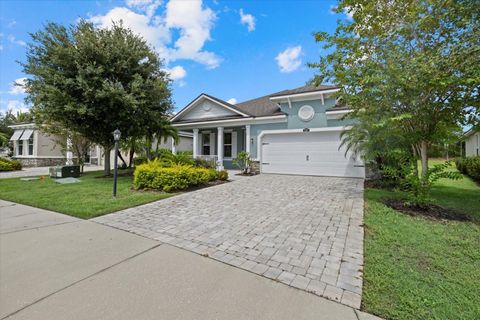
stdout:
MULTIPOLYGON (((13 144, 13 159, 22 162, 25 167, 42 167, 63 165, 67 163, 67 154, 62 150, 62 137, 45 133, 35 123, 24 123, 10 126, 14 130, 10 138, 13 144)), ((180 142, 177 150, 192 150, 193 137, 191 133, 179 132, 180 142)), ((156 142, 155 142, 156 143, 156 142)), ((65 145, 65 143, 63 143, 65 145)), ((160 143, 160 148, 171 149, 174 145, 172 138, 160 143)), ((113 166, 113 150, 111 151, 111 165, 113 166)), ((128 159, 126 154, 122 154, 128 159)), ((98 145, 93 145, 86 154, 87 165, 103 165, 104 151, 98 145)))

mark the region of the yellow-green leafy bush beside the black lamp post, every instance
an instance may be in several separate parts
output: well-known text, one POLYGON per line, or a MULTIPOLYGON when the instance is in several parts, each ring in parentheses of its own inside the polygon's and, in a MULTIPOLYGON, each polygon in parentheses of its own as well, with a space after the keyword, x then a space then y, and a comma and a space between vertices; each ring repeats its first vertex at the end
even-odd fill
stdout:
POLYGON ((137 189, 155 189, 170 192, 185 190, 217 178, 217 171, 213 169, 195 168, 189 165, 165 167, 162 161, 157 159, 141 164, 135 169, 133 185, 137 189))

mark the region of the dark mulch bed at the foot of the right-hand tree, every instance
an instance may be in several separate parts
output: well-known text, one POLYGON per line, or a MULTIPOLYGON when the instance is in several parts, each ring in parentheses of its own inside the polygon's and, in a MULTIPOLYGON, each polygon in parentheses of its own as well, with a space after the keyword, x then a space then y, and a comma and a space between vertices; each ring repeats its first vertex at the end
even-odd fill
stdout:
POLYGON ((385 199, 385 205, 411 216, 421 216, 434 220, 472 221, 473 219, 461 212, 444 208, 436 204, 425 206, 410 205, 401 199, 385 199))

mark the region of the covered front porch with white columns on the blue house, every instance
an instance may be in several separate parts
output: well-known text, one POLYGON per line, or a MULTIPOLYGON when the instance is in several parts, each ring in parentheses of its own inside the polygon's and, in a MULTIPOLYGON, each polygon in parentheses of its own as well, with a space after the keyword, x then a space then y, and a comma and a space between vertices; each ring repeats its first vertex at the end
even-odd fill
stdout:
MULTIPOLYGON (((218 170, 236 169, 233 159, 242 151, 250 153, 250 125, 182 130, 193 133, 193 157, 215 161, 218 170)), ((176 153, 175 142, 172 152, 176 153)))

